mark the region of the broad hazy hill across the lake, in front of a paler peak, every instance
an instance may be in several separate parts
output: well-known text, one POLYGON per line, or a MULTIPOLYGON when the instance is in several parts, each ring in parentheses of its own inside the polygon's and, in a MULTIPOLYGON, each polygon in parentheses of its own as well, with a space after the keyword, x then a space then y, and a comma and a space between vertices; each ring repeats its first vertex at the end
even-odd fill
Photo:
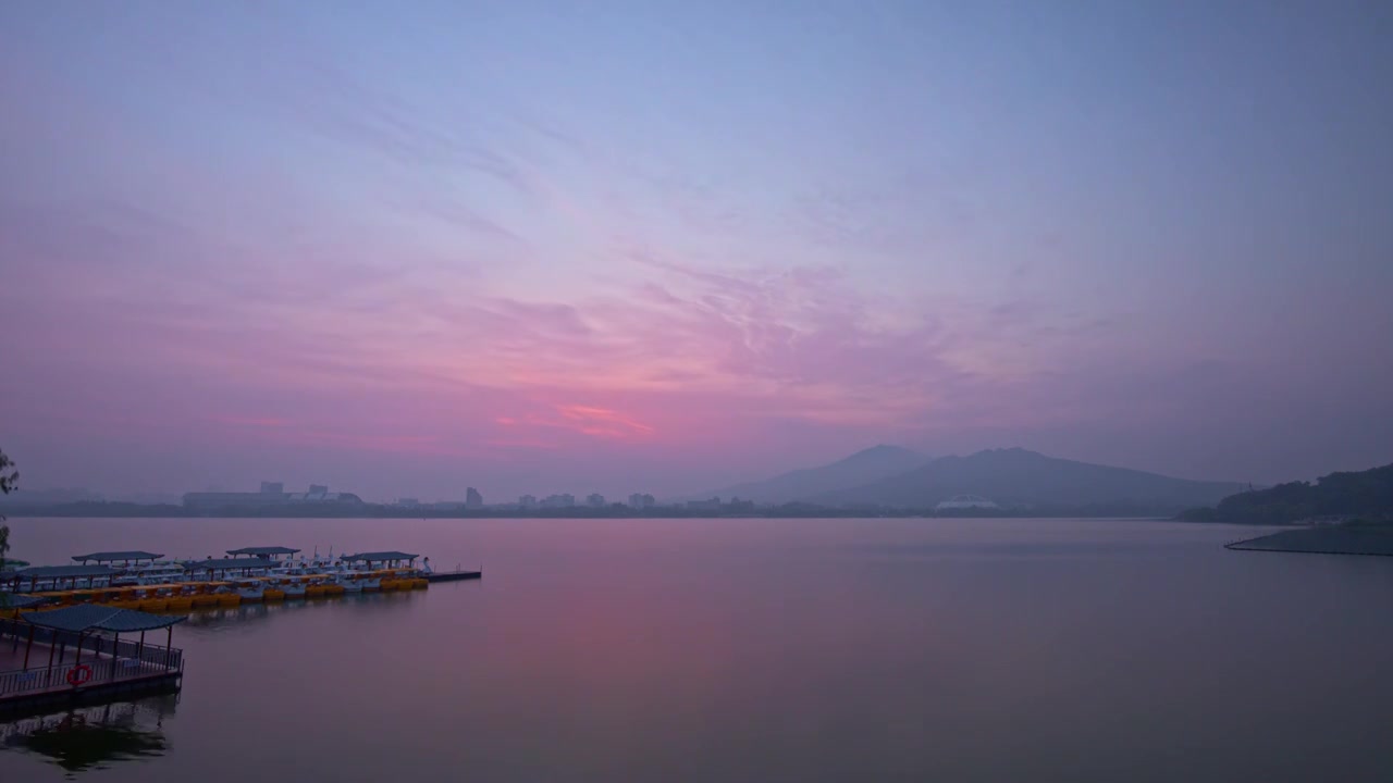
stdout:
POLYGON ((954 495, 981 495, 1002 506, 1085 507, 1133 504, 1151 513, 1181 509, 1244 489, 1231 482, 1169 478, 1127 468, 1057 460, 1024 449, 942 457, 900 475, 807 497, 830 506, 929 509, 954 495))

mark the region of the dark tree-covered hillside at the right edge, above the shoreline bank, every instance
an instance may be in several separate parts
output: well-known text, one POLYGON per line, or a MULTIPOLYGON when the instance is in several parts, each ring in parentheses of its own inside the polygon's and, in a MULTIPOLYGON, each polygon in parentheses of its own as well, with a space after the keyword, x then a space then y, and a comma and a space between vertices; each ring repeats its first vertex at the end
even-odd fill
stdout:
POLYGON ((1215 509, 1194 509, 1183 518, 1216 522, 1286 524, 1308 517, 1393 520, 1393 464, 1360 472, 1336 472, 1316 483, 1293 481, 1270 489, 1224 497, 1215 509))

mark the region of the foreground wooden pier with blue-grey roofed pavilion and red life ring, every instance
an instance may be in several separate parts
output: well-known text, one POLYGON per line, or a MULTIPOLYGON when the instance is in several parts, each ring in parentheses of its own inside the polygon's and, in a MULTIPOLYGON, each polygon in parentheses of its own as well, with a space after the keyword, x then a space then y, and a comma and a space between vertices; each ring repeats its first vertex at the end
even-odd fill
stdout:
POLYGON ((84 605, 0 620, 0 713, 177 691, 184 651, 171 642, 185 619, 84 605))

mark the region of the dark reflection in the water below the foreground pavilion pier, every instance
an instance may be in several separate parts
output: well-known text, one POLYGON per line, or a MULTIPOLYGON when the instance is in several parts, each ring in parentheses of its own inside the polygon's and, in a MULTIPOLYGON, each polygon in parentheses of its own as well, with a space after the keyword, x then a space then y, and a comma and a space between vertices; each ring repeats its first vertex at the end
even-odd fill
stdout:
POLYGON ((178 697, 169 695, 0 723, 0 747, 46 757, 72 779, 116 762, 164 755, 163 723, 177 704, 178 697))

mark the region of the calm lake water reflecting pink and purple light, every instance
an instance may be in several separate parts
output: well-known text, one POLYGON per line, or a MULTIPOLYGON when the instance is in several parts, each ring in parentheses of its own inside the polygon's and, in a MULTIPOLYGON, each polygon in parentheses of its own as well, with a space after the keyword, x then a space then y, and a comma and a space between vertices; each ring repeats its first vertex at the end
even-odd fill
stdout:
POLYGON ((479 582, 181 626, 0 780, 1387 780, 1393 560, 1138 521, 11 520, 15 555, 405 549, 479 582), (104 768, 98 770, 99 768, 104 768))

